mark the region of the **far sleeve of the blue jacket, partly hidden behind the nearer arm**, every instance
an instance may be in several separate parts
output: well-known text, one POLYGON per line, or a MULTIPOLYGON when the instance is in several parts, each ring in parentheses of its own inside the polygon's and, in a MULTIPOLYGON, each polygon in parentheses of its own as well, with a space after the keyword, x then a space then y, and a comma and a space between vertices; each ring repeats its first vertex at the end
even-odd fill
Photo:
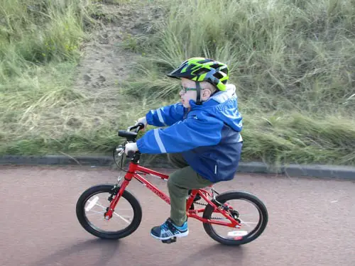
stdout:
POLYGON ((182 121, 187 109, 181 103, 163 106, 146 113, 148 125, 171 126, 173 123, 182 121))

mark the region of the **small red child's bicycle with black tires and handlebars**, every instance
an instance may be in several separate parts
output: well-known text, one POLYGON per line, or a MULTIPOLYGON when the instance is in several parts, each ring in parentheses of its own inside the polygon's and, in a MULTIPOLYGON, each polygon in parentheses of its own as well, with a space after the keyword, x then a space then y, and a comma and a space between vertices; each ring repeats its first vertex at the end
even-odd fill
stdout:
MULTIPOLYGON (((138 131, 143 124, 130 127, 127 131, 119 131, 120 137, 126 142, 136 141, 138 131), (132 130, 134 131, 132 132, 132 130)), ((121 170, 124 157, 124 145, 119 145, 114 150, 121 157, 121 170)), ((161 192, 142 175, 153 174, 160 179, 168 180, 169 176, 139 165, 141 153, 129 153, 131 158, 128 171, 117 179, 116 184, 99 184, 90 187, 82 193, 77 201, 76 214, 82 227, 92 235, 99 238, 119 239, 131 235, 141 223, 142 209, 136 196, 127 190, 132 179, 138 180, 148 189, 170 204, 170 197, 161 192), (104 196, 98 196, 105 194, 104 196), (117 207, 117 204, 119 206, 117 207), (127 211, 127 213, 126 213, 127 211), (122 214, 122 212, 124 214, 122 214), (102 226, 94 225, 103 223, 102 226), (123 228, 118 228, 122 226, 123 228)), ((117 164, 117 163, 116 163, 117 164)), ((187 217, 195 218, 203 223, 204 231, 212 239, 224 245, 242 245, 250 243, 263 233, 268 223, 268 211, 263 202, 248 192, 232 190, 219 194, 214 186, 204 189, 192 189, 186 201, 187 217), (201 200, 205 203, 202 203, 201 200), (231 201, 242 201, 236 208, 231 206, 231 201), (257 221, 251 221, 253 215, 249 209, 244 209, 243 202, 255 208, 257 221), (195 209, 195 205, 203 206, 195 209), (246 211, 247 210, 247 211, 246 211), (202 216, 200 215, 202 214, 202 216), (244 218, 245 217, 245 218, 244 218), (216 226, 216 228, 214 228, 216 226), (220 229, 232 230, 219 233, 220 229)), ((173 243, 176 237, 162 240, 163 243, 173 243)))

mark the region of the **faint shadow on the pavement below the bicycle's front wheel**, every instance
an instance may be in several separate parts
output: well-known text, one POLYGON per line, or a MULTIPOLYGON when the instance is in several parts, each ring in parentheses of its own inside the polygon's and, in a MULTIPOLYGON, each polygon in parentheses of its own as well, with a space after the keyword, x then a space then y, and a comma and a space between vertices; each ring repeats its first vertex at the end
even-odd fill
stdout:
POLYGON ((97 260, 91 260, 87 263, 85 260, 84 265, 107 265, 111 257, 116 254, 116 250, 119 248, 119 240, 86 240, 82 243, 75 243, 62 250, 58 250, 56 253, 50 254, 41 260, 33 262, 30 266, 44 266, 44 265, 65 265, 60 261, 65 260, 65 257, 75 255, 77 253, 77 262, 80 264, 83 262, 82 257, 87 254, 88 250, 100 250, 101 254, 97 255, 97 260), (82 251, 85 251, 81 253, 82 251))

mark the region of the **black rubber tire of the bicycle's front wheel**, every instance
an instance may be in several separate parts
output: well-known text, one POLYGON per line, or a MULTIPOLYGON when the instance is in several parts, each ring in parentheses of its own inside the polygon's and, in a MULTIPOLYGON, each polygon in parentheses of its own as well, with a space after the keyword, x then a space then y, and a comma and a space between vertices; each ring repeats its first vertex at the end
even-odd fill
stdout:
MULTIPOLYGON (((77 200, 77 206, 76 206, 77 219, 79 220, 80 224, 87 232, 97 236, 98 238, 105 238, 105 239, 124 238, 127 235, 131 235, 131 233, 136 231, 138 226, 141 224, 141 220, 142 220, 141 204, 139 204, 135 196, 133 196, 129 191, 125 190, 124 194, 122 194, 122 197, 124 197, 124 199, 129 201, 129 204, 131 204, 133 209, 133 219, 132 222, 129 224, 129 226, 127 226, 126 228, 120 231, 116 231, 114 233, 104 233, 104 231, 100 231, 96 228, 93 228, 90 225, 84 212, 84 206, 87 199, 89 199, 94 194, 98 194, 102 192, 111 192, 111 189, 113 187, 114 184, 99 184, 97 186, 90 187, 89 189, 84 191, 80 196, 80 198, 77 200)), ((119 203, 117 206, 119 206, 119 203)))

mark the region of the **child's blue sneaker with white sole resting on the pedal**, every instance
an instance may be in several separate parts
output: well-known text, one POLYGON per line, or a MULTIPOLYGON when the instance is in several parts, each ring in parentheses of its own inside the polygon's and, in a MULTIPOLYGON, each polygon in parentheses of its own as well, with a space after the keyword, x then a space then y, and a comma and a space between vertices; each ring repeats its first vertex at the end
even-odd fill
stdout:
POLYGON ((182 226, 175 226, 170 218, 165 221, 161 226, 155 226, 151 230, 151 235, 153 238, 160 240, 167 240, 173 237, 182 238, 189 234, 189 229, 187 228, 187 222, 182 226))

